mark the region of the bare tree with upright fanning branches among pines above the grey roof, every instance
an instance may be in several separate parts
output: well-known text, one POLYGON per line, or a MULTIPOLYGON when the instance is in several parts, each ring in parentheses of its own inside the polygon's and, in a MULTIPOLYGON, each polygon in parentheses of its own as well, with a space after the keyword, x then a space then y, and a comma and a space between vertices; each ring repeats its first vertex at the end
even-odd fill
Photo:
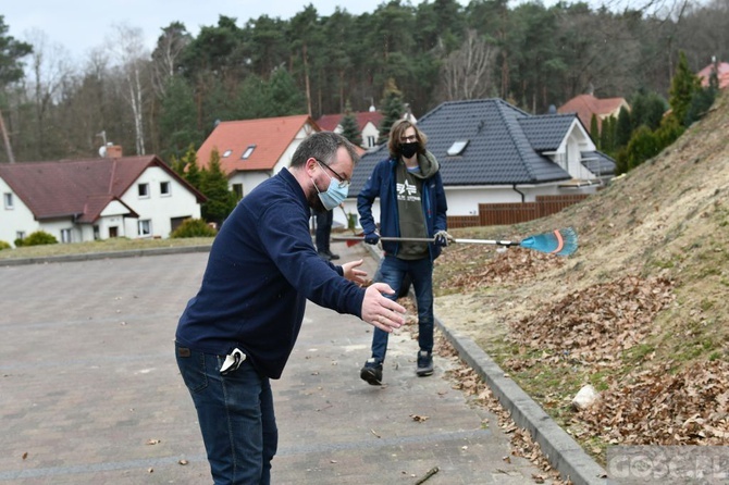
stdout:
POLYGON ((448 101, 478 99, 491 90, 491 72, 496 48, 475 30, 468 30, 461 47, 453 51, 443 64, 442 80, 448 101))

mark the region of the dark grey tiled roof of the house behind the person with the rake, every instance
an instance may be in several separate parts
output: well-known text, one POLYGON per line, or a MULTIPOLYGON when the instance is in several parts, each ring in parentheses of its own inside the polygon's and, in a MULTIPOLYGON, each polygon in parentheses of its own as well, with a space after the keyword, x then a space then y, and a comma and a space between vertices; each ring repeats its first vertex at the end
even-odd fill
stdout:
MULTIPOLYGON (((540 153, 556 149, 574 120, 574 114, 531 115, 490 98, 444 102, 423 115, 418 127, 428 135, 428 149, 441 164, 446 187, 541 184, 571 178, 540 153), (469 145, 460 156, 448 157, 456 140, 469 140, 469 145)), ((362 156, 350 196, 359 194, 374 165, 387 157, 386 145, 362 156)))

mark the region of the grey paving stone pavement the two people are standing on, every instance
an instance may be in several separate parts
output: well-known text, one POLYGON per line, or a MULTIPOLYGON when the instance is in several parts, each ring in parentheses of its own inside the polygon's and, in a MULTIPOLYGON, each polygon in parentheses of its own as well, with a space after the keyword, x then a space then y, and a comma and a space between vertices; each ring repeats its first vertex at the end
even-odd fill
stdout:
MULTIPOLYGON (((376 262, 333 244, 343 261, 376 262)), ((207 252, 0 266, 0 483, 209 484, 173 352, 207 252), (186 464, 181 464, 186 462, 186 464)), ((384 385, 359 378, 372 327, 313 303, 284 375, 274 484, 530 484, 496 418, 469 405, 435 356, 391 337, 384 385), (427 418, 424 421, 418 416, 427 418)), ((437 352, 437 349, 436 349, 437 352)))

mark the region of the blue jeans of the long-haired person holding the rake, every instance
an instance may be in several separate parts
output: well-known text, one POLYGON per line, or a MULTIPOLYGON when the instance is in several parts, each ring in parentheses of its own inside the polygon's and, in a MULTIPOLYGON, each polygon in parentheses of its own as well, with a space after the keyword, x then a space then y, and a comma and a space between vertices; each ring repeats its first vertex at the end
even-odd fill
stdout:
MULTIPOLYGON (((387 298, 397 299, 405 275, 409 274, 416 290, 418 306, 418 345, 420 350, 433 352, 433 262, 430 258, 403 260, 394 256, 385 256, 378 270, 375 281, 386 283, 395 290, 387 298)), ((380 362, 385 361, 387 351, 387 332, 374 328, 372 335, 372 357, 380 362)))

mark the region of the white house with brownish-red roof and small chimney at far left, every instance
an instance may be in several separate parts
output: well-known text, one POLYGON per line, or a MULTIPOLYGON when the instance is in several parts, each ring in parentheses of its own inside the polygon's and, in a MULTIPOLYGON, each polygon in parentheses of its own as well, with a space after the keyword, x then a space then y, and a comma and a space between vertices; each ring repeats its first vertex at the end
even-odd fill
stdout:
POLYGON ((206 198, 157 156, 0 163, 0 240, 166 238, 206 198))

